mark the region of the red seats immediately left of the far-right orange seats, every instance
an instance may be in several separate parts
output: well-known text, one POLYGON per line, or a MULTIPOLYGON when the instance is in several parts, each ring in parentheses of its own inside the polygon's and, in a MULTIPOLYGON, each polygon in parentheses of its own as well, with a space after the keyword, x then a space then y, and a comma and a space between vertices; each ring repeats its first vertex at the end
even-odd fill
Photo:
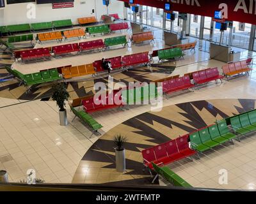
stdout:
POLYGON ((219 79, 222 82, 222 78, 224 77, 220 75, 218 68, 209 68, 193 73, 193 80, 195 81, 195 84, 205 84, 219 79))

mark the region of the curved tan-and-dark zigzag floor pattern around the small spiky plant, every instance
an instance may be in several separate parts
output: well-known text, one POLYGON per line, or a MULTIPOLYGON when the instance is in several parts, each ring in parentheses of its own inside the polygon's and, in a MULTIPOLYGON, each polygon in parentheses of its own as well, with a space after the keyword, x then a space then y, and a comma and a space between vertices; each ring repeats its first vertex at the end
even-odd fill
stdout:
POLYGON ((204 128, 216 120, 252 110, 255 105, 255 99, 214 99, 166 106, 161 112, 146 112, 133 117, 108 131, 92 145, 72 182, 148 185, 152 179, 147 171, 143 171, 141 150, 204 128), (115 170, 112 139, 116 133, 128 138, 125 173, 115 170))

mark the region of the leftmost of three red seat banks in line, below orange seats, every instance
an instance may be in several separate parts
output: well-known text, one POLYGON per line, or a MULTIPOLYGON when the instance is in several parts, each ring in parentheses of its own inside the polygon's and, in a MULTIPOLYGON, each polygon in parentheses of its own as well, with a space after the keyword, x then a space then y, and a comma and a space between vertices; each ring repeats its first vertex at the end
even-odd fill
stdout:
POLYGON ((36 48, 31 50, 23 50, 20 52, 22 61, 31 59, 42 59, 51 57, 51 52, 48 48, 36 48))

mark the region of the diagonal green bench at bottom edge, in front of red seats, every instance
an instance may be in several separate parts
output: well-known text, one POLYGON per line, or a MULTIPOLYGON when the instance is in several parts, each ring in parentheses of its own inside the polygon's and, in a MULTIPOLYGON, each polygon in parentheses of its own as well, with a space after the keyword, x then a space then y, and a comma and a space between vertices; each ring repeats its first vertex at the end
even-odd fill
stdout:
POLYGON ((191 186, 186 180, 182 179, 174 173, 170 168, 167 166, 159 167, 156 164, 152 163, 154 171, 156 171, 157 176, 161 175, 164 179, 166 179, 168 182, 173 184, 173 186, 177 187, 193 187, 191 186))

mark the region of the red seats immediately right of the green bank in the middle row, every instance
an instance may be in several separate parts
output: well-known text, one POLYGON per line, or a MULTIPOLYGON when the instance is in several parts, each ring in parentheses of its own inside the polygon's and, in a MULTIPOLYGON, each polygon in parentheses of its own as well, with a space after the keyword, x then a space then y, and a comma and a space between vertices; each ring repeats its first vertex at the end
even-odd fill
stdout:
POLYGON ((189 76, 173 78, 162 83, 163 92, 169 94, 170 92, 183 91, 195 87, 191 84, 189 76))

